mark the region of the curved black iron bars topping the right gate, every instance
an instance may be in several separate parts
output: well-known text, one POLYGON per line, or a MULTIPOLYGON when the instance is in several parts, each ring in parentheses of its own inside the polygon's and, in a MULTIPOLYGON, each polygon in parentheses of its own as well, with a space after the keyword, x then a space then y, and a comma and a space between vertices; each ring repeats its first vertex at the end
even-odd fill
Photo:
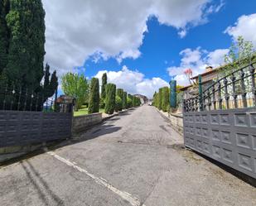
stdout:
POLYGON ((196 97, 184 99, 184 112, 256 107, 255 64, 245 65, 216 80, 196 97))

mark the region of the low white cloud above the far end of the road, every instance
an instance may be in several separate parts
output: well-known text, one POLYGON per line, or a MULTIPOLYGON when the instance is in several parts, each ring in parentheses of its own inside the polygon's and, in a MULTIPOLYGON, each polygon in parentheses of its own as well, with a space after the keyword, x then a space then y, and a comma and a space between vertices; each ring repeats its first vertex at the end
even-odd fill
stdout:
POLYGON ((119 71, 100 70, 95 77, 101 79, 107 73, 108 82, 116 84, 118 88, 124 89, 128 93, 139 93, 152 98, 152 95, 159 88, 169 84, 161 78, 145 79, 145 75, 138 70, 128 69, 127 66, 119 71))

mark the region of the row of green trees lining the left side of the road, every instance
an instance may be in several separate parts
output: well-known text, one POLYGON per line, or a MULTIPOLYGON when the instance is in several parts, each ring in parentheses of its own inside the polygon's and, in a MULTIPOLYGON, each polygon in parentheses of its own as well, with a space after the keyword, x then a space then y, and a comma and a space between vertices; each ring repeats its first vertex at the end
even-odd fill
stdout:
POLYGON ((138 107, 140 98, 117 89, 115 84, 108 83, 107 74, 102 76, 101 92, 99 92, 99 79, 90 81, 83 74, 67 73, 62 77, 62 90, 65 95, 75 98, 75 110, 82 105, 88 105, 88 113, 99 113, 99 108, 105 113, 113 114, 123 109, 138 107))

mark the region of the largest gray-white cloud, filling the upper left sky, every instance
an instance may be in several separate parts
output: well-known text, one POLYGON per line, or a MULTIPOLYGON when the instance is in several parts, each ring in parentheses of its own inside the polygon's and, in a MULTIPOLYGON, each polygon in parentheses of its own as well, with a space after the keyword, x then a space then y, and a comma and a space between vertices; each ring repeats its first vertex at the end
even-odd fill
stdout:
POLYGON ((46 61, 60 74, 83 65, 91 55, 96 61, 138 58, 152 16, 161 24, 176 27, 184 37, 191 26, 207 22, 206 16, 218 10, 212 0, 42 2, 46 9, 46 61))

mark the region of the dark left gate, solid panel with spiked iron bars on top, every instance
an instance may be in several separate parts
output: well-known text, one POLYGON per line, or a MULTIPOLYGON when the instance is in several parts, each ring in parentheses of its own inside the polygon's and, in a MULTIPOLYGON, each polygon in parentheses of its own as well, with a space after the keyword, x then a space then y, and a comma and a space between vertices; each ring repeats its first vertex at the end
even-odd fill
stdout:
POLYGON ((71 137, 73 98, 40 89, 0 88, 0 147, 71 137))

